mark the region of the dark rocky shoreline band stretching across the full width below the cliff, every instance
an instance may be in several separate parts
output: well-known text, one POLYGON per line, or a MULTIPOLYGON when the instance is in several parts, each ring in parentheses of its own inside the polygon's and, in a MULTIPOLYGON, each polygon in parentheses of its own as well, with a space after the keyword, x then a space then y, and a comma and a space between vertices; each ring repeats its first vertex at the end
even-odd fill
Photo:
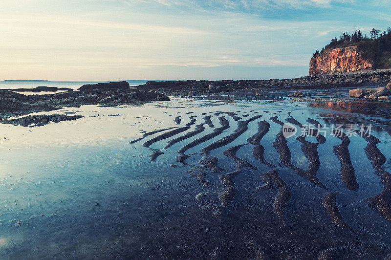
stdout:
MULTIPOLYGON (((136 87, 130 87, 128 82, 123 81, 89 84, 81 86, 77 90, 57 87, 0 89, 0 122, 11 123, 15 121, 6 119, 32 112, 58 110, 64 107, 80 108, 83 105, 114 107, 169 101, 168 96, 194 97, 200 100, 215 99, 227 102, 238 99, 278 101, 284 100, 288 96, 310 102, 327 102, 335 99, 363 101, 349 97, 348 91, 358 87, 385 87, 390 82, 391 71, 381 73, 374 71, 366 74, 316 75, 282 80, 147 81, 145 85, 136 87), (55 90, 55 92, 50 92, 51 90, 55 90), (59 90, 64 92, 59 92, 59 90), (16 91, 33 94, 24 95, 16 91), (44 93, 41 93, 42 91, 44 93)), ((380 102, 384 101, 386 100, 380 102)), ((54 118, 54 122, 58 118, 72 119, 70 116, 68 118, 57 116, 54 118)), ((43 117, 35 119, 27 117, 23 119, 24 121, 22 120, 21 125, 26 125, 25 121, 35 122, 37 126, 44 125, 42 119, 43 117)), ((47 117, 44 117, 44 122, 49 121, 47 117)))

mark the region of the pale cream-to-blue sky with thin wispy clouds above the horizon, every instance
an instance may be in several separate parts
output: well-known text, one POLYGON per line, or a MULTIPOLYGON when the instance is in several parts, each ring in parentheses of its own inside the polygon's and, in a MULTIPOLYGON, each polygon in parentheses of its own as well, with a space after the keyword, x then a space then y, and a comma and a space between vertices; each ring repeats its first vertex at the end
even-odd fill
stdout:
POLYGON ((308 75, 342 32, 391 26, 391 0, 1 0, 0 80, 308 75))

